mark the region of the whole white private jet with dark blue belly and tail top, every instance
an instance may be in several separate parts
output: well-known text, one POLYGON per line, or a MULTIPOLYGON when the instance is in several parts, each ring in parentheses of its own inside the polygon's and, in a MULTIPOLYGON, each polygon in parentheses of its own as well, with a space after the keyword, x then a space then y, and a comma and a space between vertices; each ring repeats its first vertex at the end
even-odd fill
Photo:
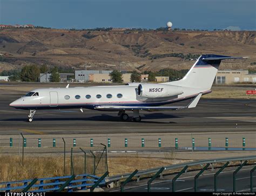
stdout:
POLYGON ((35 89, 10 104, 16 109, 30 110, 28 121, 36 110, 83 109, 116 111, 128 120, 126 111, 133 111, 133 120, 140 121, 140 110, 181 110, 196 107, 200 97, 211 92, 221 60, 246 57, 201 55, 183 79, 160 83, 129 83, 122 86, 63 87, 35 89), (192 99, 187 106, 165 106, 192 99))

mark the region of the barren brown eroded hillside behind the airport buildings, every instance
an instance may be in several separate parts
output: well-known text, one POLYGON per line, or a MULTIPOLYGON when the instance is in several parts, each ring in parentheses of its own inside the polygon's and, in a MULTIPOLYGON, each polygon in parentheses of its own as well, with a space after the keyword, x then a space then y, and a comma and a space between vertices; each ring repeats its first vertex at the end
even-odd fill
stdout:
POLYGON ((249 56, 226 60, 220 69, 255 69, 256 31, 139 31, 103 32, 62 29, 0 30, 0 71, 25 64, 48 64, 73 69, 158 71, 189 69, 199 55, 249 56), (176 57, 183 53, 185 57, 176 57), (7 56, 8 55, 8 56, 7 56), (188 59, 186 59, 188 58, 188 59))

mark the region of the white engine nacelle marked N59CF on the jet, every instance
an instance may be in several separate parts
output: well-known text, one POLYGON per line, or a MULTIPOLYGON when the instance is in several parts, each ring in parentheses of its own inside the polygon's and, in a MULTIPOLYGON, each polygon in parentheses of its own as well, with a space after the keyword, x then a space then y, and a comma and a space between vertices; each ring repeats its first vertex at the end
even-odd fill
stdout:
POLYGON ((168 84, 139 84, 137 90, 138 96, 145 98, 162 98, 182 94, 180 86, 168 84))

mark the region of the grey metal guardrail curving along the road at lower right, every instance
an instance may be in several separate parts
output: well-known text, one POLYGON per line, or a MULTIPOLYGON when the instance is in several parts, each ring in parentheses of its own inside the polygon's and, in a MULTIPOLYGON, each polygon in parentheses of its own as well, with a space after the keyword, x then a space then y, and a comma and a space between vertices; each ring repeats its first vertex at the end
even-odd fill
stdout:
MULTIPOLYGON (((227 161, 242 161, 242 160, 256 160, 256 156, 247 156, 247 157, 232 157, 232 158, 220 158, 220 159, 208 159, 208 160, 200 160, 200 161, 193 161, 190 163, 184 163, 184 164, 177 164, 177 165, 169 165, 169 166, 164 166, 165 170, 174 170, 177 168, 184 168, 186 165, 187 166, 194 166, 194 165, 200 165, 200 164, 214 164, 214 163, 223 163, 227 161)), ((150 170, 143 170, 143 171, 138 171, 134 177, 140 177, 142 175, 149 175, 152 173, 157 173, 160 170, 161 167, 157 168, 152 168, 150 170)), ((121 175, 113 175, 111 177, 105 178, 107 183, 111 183, 113 181, 118 181, 122 179, 128 178, 132 173, 125 173, 121 175)))

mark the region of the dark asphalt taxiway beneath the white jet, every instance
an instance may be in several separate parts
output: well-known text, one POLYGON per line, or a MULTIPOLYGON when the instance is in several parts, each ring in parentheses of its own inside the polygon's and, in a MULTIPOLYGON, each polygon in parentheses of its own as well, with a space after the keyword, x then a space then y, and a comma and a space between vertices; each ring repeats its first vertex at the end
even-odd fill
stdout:
MULTIPOLYGON (((255 131, 256 100, 201 99, 194 109, 180 111, 140 112, 142 121, 120 121, 117 112, 94 110, 41 110, 32 123, 29 111, 17 110, 9 104, 24 93, 0 92, 0 135, 19 134, 21 129, 45 134, 79 133, 185 133, 255 131)), ((188 101, 189 102, 189 101, 188 101)), ((186 105, 176 103, 176 105, 186 105)), ((132 112, 127 112, 132 117, 132 112)))

